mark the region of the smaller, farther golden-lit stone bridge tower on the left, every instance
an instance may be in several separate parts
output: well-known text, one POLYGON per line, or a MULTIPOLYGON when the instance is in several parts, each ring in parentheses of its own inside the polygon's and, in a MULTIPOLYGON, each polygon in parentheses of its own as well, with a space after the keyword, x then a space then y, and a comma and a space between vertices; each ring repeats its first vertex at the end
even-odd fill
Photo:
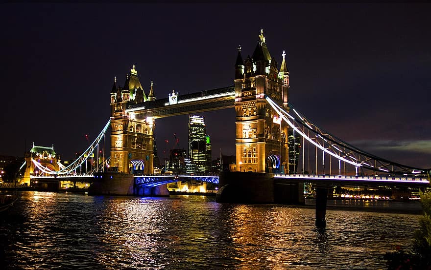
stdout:
POLYGON ((154 165, 154 119, 142 118, 128 113, 129 104, 155 100, 153 83, 148 94, 138 78, 135 65, 126 75, 123 87, 114 85, 111 90, 111 167, 120 172, 153 173, 154 165))

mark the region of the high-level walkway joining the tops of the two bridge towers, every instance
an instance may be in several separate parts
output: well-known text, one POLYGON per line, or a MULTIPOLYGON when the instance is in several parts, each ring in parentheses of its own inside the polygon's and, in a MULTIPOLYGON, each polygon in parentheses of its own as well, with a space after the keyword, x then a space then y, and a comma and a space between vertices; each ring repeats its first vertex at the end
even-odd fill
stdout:
POLYGON ((175 104, 168 98, 128 105, 128 113, 144 113, 154 119, 235 107, 235 86, 179 95, 175 104))

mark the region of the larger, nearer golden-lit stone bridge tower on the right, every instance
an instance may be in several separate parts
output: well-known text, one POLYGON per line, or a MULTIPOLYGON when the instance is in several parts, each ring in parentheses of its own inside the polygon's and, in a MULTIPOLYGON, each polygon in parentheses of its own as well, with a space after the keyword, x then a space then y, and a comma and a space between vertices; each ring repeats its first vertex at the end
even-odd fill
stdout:
POLYGON ((237 170, 288 172, 287 123, 267 104, 265 96, 288 111, 289 71, 277 62, 266 46, 263 30, 245 62, 241 47, 235 64, 237 170))

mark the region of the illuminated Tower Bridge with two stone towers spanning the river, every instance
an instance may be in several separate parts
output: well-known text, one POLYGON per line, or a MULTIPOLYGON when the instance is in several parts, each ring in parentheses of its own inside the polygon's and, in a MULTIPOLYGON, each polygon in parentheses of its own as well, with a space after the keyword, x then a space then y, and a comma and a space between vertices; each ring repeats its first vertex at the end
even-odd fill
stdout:
POLYGON ((234 86, 182 95, 172 91, 168 97, 156 99, 154 84, 151 82, 146 94, 133 65, 123 87, 114 79, 110 93, 110 120, 97 137, 97 143, 86 151, 87 155, 78 158, 73 166, 59 171, 40 164, 37 166, 48 174, 76 171, 83 164, 84 157, 88 158, 90 148, 94 151, 97 145, 98 149, 109 125, 110 166, 116 171, 109 177, 95 175, 98 181, 105 181, 100 183, 114 183, 111 179, 116 175, 121 175, 118 176, 121 181, 125 179, 124 175, 130 175, 127 181, 133 187, 156 187, 178 181, 179 175, 153 174, 156 119, 235 108, 235 171, 209 178, 181 175, 182 179, 201 177, 201 181, 218 181, 218 201, 242 198, 251 202, 301 203, 302 183, 315 183, 316 222, 324 222, 328 188, 334 184, 429 186, 430 168, 405 166, 367 153, 320 128, 294 108, 288 98, 290 78, 286 54, 283 51, 279 65, 269 53, 263 31, 252 56, 243 60, 239 46, 234 67, 234 86), (313 149, 311 155, 305 152, 305 145, 313 149), (313 167, 306 168, 307 163, 313 167), (302 173, 298 173, 300 165, 302 173), (309 173, 311 169, 315 174, 309 173), (244 194, 246 197, 241 197, 244 194))

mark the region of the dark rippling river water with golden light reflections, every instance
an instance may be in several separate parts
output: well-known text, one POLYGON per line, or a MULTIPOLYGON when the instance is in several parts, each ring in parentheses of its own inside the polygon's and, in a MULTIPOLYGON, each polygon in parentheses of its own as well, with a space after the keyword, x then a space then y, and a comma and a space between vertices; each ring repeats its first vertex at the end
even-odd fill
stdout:
POLYGON ((147 270, 385 269, 420 217, 328 209, 317 229, 307 207, 43 192, 0 215, 5 269, 147 270))

